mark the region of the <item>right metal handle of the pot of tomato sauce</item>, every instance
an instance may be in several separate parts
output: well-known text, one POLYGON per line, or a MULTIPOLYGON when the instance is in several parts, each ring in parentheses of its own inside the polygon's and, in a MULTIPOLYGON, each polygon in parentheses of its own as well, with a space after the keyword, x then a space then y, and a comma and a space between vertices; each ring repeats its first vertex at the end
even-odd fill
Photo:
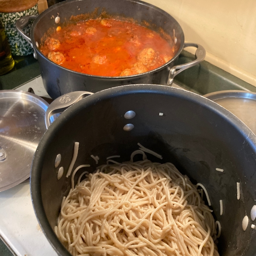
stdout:
POLYGON ((181 65, 172 67, 169 71, 168 84, 172 84, 175 76, 177 74, 179 74, 181 71, 186 70, 189 67, 193 67, 204 60, 205 55, 206 55, 206 51, 205 51, 204 47, 202 47, 200 44, 184 43, 183 49, 186 47, 191 47, 191 46, 197 48, 197 50, 195 52, 195 60, 191 61, 189 63, 186 63, 186 64, 181 64, 181 65))

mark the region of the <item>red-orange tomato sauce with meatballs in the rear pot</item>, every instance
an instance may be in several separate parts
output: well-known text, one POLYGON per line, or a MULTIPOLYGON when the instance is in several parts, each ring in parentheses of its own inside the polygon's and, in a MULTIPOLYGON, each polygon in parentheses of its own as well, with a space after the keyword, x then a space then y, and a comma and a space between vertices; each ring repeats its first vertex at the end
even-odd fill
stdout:
POLYGON ((114 19, 58 27, 39 49, 62 67, 95 76, 144 73, 174 56, 174 47, 157 32, 114 19))

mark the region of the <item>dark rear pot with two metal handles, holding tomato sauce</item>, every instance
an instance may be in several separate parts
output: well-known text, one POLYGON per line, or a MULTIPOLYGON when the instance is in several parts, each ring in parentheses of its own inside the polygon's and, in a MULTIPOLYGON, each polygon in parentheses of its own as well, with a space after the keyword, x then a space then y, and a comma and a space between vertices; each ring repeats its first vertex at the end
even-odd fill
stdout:
POLYGON ((184 43, 184 34, 179 23, 167 12, 151 4, 139 0, 67 0, 58 3, 38 17, 25 16, 17 20, 16 27, 21 35, 32 44, 35 49, 34 56, 38 58, 44 87, 47 93, 56 99, 65 93, 79 90, 98 92, 124 84, 172 84, 174 77, 189 67, 192 67, 204 60, 205 50, 199 44, 184 43), (95 10, 97 9, 97 12, 95 10), (139 24, 148 23, 149 28, 158 30, 162 28, 164 32, 171 36, 172 43, 175 44, 175 56, 163 66, 134 76, 124 77, 105 77, 92 76, 68 70, 50 61, 38 49, 37 43, 47 33, 49 28, 55 28, 61 23, 56 24, 53 17, 59 16, 61 22, 70 20, 70 17, 84 13, 93 13, 98 17, 102 10, 114 17, 131 17, 139 24), (32 24, 31 37, 25 35, 23 28, 28 25, 29 20, 35 19, 32 24), (180 52, 185 47, 197 47, 195 61, 177 65, 180 52))

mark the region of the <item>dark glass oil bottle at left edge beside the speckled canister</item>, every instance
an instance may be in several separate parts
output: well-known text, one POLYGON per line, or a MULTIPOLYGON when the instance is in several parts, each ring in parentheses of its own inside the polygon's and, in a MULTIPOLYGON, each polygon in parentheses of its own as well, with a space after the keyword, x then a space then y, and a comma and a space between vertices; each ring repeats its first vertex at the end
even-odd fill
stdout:
POLYGON ((9 47, 3 25, 0 20, 0 76, 14 67, 11 49, 9 47))

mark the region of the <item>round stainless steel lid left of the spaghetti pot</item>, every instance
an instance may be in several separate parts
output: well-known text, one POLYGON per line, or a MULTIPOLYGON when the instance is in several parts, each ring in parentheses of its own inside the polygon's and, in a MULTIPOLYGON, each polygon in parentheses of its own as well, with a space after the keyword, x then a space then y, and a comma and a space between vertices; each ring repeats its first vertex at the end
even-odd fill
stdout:
POLYGON ((0 191, 29 177, 35 150, 46 131, 48 106, 32 93, 0 91, 0 191))

